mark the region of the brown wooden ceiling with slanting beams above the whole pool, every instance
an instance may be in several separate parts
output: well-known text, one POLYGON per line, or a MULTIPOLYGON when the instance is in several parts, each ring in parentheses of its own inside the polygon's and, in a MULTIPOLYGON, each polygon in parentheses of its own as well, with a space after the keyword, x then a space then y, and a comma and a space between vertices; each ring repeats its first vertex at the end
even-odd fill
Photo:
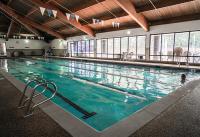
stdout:
POLYGON ((99 32, 200 19, 200 0, 1 0, 0 32, 9 36, 33 33, 49 38, 65 38, 99 32), (130 4, 127 4, 130 3, 130 4), (39 7, 58 11, 56 18, 42 16, 39 7), (75 13, 80 21, 67 20, 75 13), (104 20, 104 25, 92 19, 104 20), (14 21, 12 21, 14 20, 14 21), (112 22, 120 28, 113 28, 112 22))

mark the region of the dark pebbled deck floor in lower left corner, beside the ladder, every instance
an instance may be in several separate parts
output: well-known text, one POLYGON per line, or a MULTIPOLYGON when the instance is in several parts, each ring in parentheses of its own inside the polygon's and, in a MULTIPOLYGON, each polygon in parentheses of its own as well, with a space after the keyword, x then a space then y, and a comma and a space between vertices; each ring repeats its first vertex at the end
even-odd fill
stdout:
POLYGON ((1 137, 72 137, 40 109, 24 118, 17 109, 21 92, 0 76, 0 136, 1 137))

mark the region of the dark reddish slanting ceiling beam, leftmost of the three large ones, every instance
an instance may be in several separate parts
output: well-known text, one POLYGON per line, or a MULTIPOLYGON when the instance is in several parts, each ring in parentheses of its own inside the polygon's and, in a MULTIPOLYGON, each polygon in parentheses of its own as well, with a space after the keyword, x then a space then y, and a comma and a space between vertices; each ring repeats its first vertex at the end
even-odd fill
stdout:
POLYGON ((4 5, 2 2, 0 2, 0 10, 2 10, 4 13, 8 14, 10 17, 13 17, 18 22, 22 23, 26 28, 27 27, 29 28, 29 26, 31 26, 38 30, 46 32, 52 36, 55 36, 57 38, 62 38, 62 39, 64 38, 61 34, 54 32, 50 28, 40 25, 40 24, 37 24, 30 19, 27 19, 27 18, 24 18, 23 16, 18 15, 17 13, 14 12, 14 10, 12 8, 8 7, 7 5, 4 5))

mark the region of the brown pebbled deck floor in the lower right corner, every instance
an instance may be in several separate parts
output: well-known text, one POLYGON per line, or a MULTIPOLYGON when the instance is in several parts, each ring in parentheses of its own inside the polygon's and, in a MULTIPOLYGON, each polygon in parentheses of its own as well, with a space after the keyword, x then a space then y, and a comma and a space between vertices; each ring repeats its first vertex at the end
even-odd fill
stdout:
POLYGON ((130 137, 199 137, 200 87, 130 137))

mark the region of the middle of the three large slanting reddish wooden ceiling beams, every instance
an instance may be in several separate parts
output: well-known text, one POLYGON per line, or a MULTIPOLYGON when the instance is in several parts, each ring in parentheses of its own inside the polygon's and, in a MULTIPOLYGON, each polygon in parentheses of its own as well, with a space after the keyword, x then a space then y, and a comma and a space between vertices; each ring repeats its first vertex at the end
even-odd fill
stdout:
POLYGON ((67 17, 65 16, 65 13, 60 11, 60 9, 57 8, 56 6, 51 5, 49 3, 43 3, 41 0, 32 0, 32 3, 34 3, 35 5, 40 5, 44 8, 47 8, 47 9, 56 10, 57 11, 57 18, 60 21, 64 21, 68 24, 71 24, 75 28, 79 29, 82 32, 85 32, 86 34, 88 34, 90 36, 93 36, 93 37, 95 36, 94 31, 89 26, 83 26, 79 22, 77 22, 76 20, 68 20, 67 17))

